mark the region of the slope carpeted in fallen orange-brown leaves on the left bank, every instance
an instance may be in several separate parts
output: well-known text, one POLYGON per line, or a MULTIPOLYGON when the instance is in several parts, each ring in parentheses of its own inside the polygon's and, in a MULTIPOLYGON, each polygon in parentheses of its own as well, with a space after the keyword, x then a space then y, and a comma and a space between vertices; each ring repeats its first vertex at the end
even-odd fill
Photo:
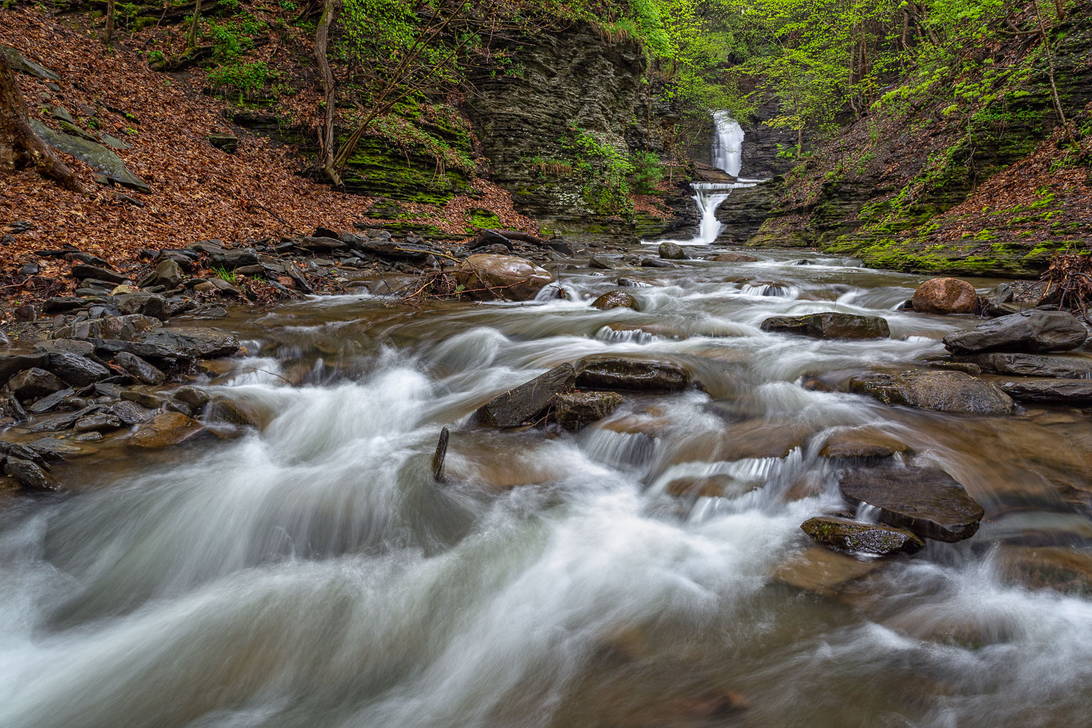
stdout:
MULTIPOLYGON (((200 92, 201 72, 151 71, 134 52, 132 46, 139 41, 121 38, 107 49, 96 33, 78 16, 50 19, 28 9, 0 10, 0 44, 61 76, 60 91, 51 91, 47 82, 19 74, 32 114, 57 128, 48 107, 64 106, 80 126, 94 111, 99 131, 132 145, 118 155, 151 184, 153 193, 103 187, 87 165, 67 155, 61 156, 91 189, 90 196, 67 192, 33 171, 0 178, 0 225, 15 220, 33 225, 0 247, 0 268, 10 268, 31 251, 62 244, 120 262, 141 248, 297 235, 319 225, 344 229, 363 219, 370 199, 301 177, 294 150, 230 129, 224 115, 227 104, 200 92), (236 133, 238 151, 227 154, 213 147, 206 135, 214 132, 236 133)), ((452 234, 465 226, 463 210, 484 204, 506 225, 531 227, 513 210, 507 192, 485 180, 476 180, 475 188, 480 196, 456 196, 443 208, 408 207, 452 234)))

